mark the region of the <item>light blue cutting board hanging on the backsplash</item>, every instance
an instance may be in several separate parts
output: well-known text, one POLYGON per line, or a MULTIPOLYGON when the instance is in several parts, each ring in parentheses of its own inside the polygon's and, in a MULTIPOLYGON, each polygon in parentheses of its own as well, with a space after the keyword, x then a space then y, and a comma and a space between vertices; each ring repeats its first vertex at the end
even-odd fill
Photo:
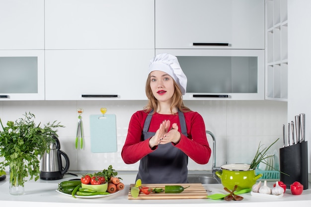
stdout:
POLYGON ((116 115, 90 115, 91 152, 116 152, 116 115))

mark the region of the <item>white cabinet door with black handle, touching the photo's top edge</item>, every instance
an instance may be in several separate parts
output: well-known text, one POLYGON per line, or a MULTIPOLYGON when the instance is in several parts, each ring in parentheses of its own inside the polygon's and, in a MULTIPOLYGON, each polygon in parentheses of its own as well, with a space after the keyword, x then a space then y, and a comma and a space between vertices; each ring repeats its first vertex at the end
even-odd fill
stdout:
POLYGON ((156 49, 264 49, 264 5, 264 0, 156 0, 156 49))

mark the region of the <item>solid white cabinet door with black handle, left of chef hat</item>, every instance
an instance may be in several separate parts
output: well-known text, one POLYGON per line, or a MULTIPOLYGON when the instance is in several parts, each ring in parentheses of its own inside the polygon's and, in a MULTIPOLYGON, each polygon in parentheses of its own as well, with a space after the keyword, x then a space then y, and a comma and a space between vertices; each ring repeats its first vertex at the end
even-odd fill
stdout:
POLYGON ((46 100, 145 100, 154 50, 48 50, 46 100))

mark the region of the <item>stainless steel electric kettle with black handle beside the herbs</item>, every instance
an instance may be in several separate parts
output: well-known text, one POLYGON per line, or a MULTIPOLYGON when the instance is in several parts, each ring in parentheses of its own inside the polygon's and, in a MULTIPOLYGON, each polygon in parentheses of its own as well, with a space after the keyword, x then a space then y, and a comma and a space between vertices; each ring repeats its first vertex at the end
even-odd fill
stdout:
POLYGON ((50 145, 50 152, 45 152, 41 159, 40 179, 59 180, 68 171, 70 161, 68 155, 63 152, 59 139, 53 135, 55 142, 50 145), (66 166, 63 167, 62 156, 65 158, 66 166))

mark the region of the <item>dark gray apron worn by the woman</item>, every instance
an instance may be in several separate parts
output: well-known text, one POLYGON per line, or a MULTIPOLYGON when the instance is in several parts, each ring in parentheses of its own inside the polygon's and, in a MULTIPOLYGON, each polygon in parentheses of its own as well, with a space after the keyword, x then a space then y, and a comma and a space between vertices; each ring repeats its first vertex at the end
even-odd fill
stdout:
MULTIPOLYGON (((142 140, 154 136, 155 132, 148 132, 152 119, 152 111, 145 120, 142 140)), ((184 114, 178 110, 181 133, 187 136, 184 114)), ((142 183, 187 183, 188 156, 172 143, 159 144, 157 149, 140 160, 136 177, 142 183)))

